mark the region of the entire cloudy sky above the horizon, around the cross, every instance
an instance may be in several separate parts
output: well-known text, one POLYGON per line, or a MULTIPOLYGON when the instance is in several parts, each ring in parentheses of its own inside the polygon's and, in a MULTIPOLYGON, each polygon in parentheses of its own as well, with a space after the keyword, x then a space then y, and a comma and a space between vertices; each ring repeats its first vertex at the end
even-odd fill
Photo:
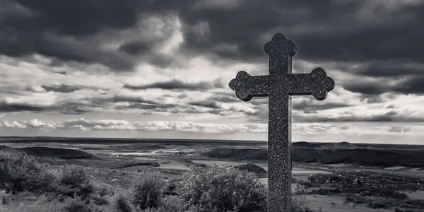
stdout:
POLYGON ((0 0, 1 136, 267 139, 268 99, 228 82, 298 45, 326 100, 293 97, 293 141, 424 142, 424 1, 0 0))

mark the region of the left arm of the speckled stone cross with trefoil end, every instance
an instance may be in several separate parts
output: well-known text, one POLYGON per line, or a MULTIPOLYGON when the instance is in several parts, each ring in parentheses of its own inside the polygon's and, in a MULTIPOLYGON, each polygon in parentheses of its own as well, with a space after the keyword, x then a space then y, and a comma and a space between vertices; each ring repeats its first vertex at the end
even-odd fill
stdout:
POLYGON ((245 102, 254 97, 268 96, 271 90, 269 76, 251 76, 246 71, 239 71, 228 86, 235 90, 235 95, 245 102))

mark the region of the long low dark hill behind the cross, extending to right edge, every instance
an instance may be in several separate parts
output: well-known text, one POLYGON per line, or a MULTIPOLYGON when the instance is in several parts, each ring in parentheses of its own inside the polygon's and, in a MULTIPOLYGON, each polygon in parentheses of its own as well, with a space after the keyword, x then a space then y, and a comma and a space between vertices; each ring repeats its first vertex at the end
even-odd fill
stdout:
MULTIPOLYGON (((372 148, 363 144, 309 143, 292 144, 294 162, 302 163, 349 163, 372 166, 424 167, 424 149, 372 148)), ((204 153, 211 158, 230 160, 267 160, 266 148, 215 148, 204 153)))

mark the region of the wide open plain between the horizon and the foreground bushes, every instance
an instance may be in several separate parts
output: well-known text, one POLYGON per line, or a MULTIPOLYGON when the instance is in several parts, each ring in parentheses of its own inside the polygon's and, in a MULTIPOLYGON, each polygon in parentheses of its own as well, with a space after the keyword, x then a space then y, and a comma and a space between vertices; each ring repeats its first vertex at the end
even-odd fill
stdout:
MULTIPOLYGON (((145 170, 179 180, 192 167, 237 167, 267 184, 266 143, 135 139, 2 138, 52 167, 76 165, 96 185, 129 189, 145 170), (47 148, 48 147, 48 148, 47 148), (254 165, 247 165, 254 164, 254 165)), ((424 146, 293 143, 293 193, 322 211, 424 211, 424 146)))

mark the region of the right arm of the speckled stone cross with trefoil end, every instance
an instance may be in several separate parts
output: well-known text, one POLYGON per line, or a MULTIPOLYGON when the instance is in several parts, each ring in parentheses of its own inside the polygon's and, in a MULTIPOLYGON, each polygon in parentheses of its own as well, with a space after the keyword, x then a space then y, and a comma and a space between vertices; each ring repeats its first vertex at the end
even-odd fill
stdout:
POLYGON ((313 95, 317 100, 324 100, 335 86, 333 78, 327 76, 322 68, 316 68, 311 73, 288 74, 286 83, 289 95, 313 95))

